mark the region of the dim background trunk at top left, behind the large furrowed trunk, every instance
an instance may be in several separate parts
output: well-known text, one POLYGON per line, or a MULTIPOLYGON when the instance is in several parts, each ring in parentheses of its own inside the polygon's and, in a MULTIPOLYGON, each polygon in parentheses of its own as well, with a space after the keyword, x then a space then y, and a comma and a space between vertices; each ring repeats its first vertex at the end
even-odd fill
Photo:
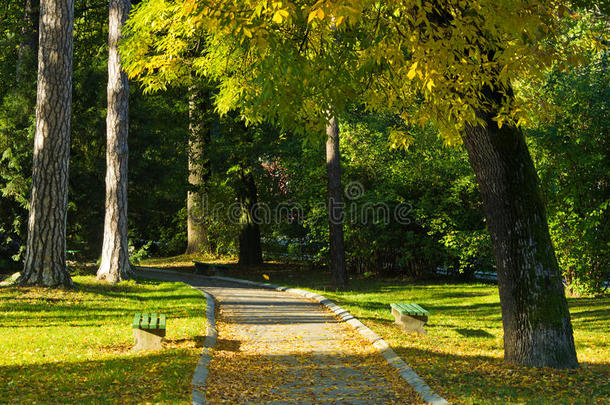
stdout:
MULTIPOLYGON (((40 0, 25 0, 23 6, 23 20, 21 23, 21 40, 17 53, 16 78, 17 82, 23 80, 24 70, 32 66, 38 51, 38 25, 40 15, 40 0)), ((29 69, 28 69, 29 71, 29 69)))

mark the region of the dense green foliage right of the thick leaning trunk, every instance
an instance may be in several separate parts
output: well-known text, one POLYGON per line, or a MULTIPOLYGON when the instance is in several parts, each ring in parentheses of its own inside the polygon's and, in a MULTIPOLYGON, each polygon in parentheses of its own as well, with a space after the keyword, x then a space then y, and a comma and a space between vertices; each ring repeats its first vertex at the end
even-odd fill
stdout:
POLYGON ((610 54, 525 91, 545 106, 526 135, 559 266, 571 294, 600 293, 610 277, 610 54))

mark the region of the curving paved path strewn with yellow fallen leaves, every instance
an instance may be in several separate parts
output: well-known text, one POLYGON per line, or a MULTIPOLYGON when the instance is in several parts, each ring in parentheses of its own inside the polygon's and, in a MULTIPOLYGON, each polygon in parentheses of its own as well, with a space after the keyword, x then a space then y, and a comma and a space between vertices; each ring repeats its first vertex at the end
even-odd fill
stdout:
POLYGON ((218 302, 208 403, 421 403, 370 343, 313 300, 212 278, 146 275, 183 281, 218 302))

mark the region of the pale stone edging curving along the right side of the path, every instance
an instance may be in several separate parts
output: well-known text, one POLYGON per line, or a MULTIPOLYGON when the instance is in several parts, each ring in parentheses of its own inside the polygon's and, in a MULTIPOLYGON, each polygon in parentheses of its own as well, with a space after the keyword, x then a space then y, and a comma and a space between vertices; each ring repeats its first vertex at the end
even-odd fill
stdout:
MULTIPOLYGON (((405 380, 407 384, 409 384, 426 403, 433 405, 449 405, 449 401, 432 391, 432 389, 426 384, 426 382, 420 376, 418 376, 417 373, 415 373, 415 371, 413 371, 413 369, 409 367, 403 359, 398 357, 396 352, 392 350, 392 348, 387 344, 385 340, 383 340, 381 336, 373 332, 369 327, 365 326, 358 319, 354 318, 352 314, 350 314, 347 310, 341 308, 328 298, 319 294, 312 293, 310 291, 305 291, 297 288, 281 287, 269 283, 259 283, 256 281, 242 280, 232 277, 210 276, 209 278, 230 281, 234 283, 248 284, 254 287, 269 288, 277 291, 284 291, 287 293, 297 294, 318 301, 321 305, 324 305, 326 308, 331 310, 342 321, 354 328, 362 337, 370 341, 373 346, 377 350, 379 350, 379 352, 381 352, 386 361, 396 369, 397 373, 402 377, 402 379, 405 380)), ((195 403, 194 395, 193 403, 195 403)))

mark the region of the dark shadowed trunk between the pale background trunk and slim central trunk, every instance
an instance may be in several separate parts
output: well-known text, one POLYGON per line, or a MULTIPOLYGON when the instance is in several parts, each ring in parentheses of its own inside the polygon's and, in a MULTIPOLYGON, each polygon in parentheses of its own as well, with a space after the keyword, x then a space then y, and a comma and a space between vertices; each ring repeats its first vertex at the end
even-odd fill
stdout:
POLYGON ((252 173, 240 171, 240 183, 237 187, 237 197, 241 208, 239 219, 239 264, 257 265, 263 263, 261 248, 261 233, 258 223, 254 221, 253 209, 258 202, 256 183, 252 173))

